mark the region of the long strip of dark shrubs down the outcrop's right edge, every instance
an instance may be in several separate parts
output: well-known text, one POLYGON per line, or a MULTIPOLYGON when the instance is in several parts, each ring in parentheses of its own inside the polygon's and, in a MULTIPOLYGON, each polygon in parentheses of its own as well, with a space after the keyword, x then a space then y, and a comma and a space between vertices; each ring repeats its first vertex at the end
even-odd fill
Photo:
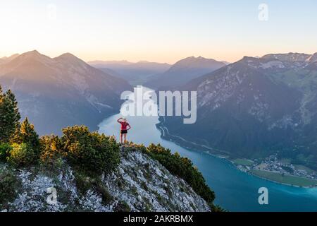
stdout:
POLYGON ((169 149, 163 148, 161 145, 151 144, 146 150, 144 148, 142 150, 158 160, 171 174, 184 179, 213 208, 215 194, 191 160, 187 157, 180 157, 178 153, 172 154, 169 149))

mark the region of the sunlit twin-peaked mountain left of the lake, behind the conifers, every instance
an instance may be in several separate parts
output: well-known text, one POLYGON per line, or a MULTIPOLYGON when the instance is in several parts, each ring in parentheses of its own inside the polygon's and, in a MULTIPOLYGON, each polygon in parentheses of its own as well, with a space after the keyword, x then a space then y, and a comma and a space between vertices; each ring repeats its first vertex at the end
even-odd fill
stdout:
POLYGON ((50 58, 37 51, 1 59, 0 84, 11 89, 21 116, 28 117, 40 135, 85 124, 91 129, 119 111, 120 93, 128 82, 95 69, 66 53, 50 58), (6 61, 6 62, 4 62, 6 61))

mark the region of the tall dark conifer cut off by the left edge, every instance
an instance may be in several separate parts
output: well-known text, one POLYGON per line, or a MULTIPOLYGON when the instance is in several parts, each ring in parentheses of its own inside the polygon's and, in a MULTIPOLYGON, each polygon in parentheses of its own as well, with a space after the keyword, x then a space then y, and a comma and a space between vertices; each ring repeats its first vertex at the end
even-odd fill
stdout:
POLYGON ((11 90, 4 93, 0 86, 0 142, 7 143, 10 140, 19 120, 20 113, 15 95, 11 90))

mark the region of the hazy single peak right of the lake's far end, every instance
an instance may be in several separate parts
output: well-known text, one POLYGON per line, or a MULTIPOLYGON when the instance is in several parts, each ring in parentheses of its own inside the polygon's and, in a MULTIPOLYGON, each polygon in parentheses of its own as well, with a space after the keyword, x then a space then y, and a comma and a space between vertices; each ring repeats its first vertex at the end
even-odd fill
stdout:
POLYGON ((214 59, 187 57, 176 62, 168 71, 152 76, 144 85, 155 90, 170 90, 225 65, 214 59))

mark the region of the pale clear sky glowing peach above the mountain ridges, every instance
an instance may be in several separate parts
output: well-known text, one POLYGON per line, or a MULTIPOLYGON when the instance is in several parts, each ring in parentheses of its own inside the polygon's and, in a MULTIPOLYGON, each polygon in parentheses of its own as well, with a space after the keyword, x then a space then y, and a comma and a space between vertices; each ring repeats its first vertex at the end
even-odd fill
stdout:
POLYGON ((0 57, 37 49, 86 61, 236 61, 317 52, 317 1, 1 0, 0 57), (259 20, 267 4, 268 20, 259 20))

